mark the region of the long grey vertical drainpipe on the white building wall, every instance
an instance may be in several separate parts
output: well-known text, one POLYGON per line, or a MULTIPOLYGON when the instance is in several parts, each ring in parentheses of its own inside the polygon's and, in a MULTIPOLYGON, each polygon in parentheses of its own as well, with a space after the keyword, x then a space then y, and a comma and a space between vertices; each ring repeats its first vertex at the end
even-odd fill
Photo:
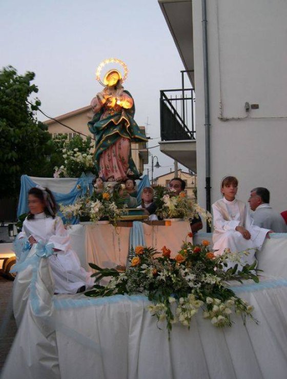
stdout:
MULTIPOLYGON (((208 43, 207 43, 207 10, 206 0, 201 0, 202 10, 202 44, 203 44, 203 74, 204 74, 204 109, 206 131, 206 209, 211 212, 210 196, 210 109, 209 109, 209 72, 208 72, 208 43)), ((211 232, 207 223, 207 232, 211 232)))

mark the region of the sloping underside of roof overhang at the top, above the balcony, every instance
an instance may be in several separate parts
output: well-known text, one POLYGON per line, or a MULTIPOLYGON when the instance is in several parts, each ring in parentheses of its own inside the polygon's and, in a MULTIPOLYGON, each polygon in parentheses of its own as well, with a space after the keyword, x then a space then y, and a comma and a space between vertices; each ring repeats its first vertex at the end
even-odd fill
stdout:
MULTIPOLYGON (((158 0, 186 70, 194 70, 192 0, 158 0)), ((194 87, 194 72, 188 73, 194 87)))

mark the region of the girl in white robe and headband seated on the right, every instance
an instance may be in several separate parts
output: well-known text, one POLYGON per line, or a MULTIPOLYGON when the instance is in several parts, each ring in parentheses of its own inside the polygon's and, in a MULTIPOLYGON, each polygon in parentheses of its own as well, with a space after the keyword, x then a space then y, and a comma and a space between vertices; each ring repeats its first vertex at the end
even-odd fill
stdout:
MULTIPOLYGON (((236 199, 238 180, 234 176, 226 176, 221 180, 220 191, 222 199, 212 204, 213 211, 213 248, 216 255, 230 249, 232 253, 243 252, 241 264, 252 264, 255 261, 255 251, 260 250, 268 229, 253 225, 249 206, 236 199)), ((230 262, 229 267, 235 263, 230 262)), ((229 268, 228 267, 228 268, 229 268)), ((238 265, 238 269, 242 268, 238 265)))

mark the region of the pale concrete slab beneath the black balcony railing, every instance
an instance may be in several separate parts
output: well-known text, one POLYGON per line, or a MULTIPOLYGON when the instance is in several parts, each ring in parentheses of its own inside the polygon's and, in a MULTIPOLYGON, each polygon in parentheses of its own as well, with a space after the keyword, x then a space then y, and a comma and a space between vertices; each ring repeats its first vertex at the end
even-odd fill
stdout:
POLYGON ((196 172, 196 140, 160 141, 161 153, 196 172))

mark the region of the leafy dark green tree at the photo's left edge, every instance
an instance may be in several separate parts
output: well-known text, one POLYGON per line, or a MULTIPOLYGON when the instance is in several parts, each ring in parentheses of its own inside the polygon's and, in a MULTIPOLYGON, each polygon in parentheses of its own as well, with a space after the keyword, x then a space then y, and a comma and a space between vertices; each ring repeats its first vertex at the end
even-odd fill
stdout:
POLYGON ((52 148, 47 126, 35 117, 40 101, 30 100, 38 92, 34 77, 11 66, 0 70, 0 198, 18 195, 22 174, 43 176, 52 148))

